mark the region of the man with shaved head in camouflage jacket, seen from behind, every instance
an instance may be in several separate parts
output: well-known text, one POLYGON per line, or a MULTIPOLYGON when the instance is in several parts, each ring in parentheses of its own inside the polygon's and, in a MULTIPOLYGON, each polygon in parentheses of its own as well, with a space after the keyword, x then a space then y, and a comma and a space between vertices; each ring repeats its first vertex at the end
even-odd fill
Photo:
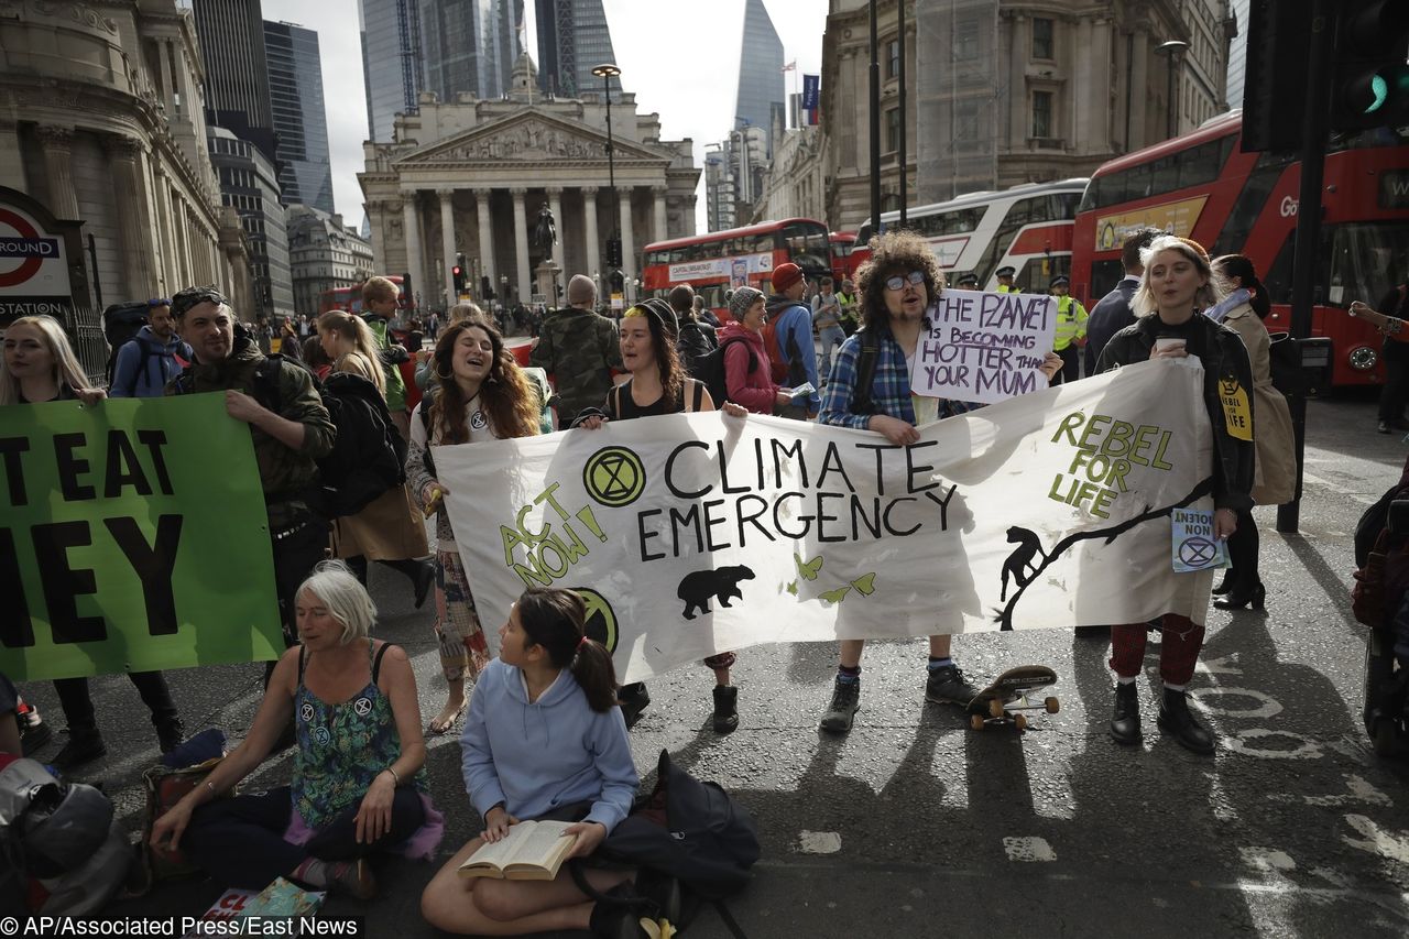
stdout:
POLYGON ((528 361, 552 375, 558 427, 566 430, 583 407, 600 407, 621 371, 617 326, 595 312, 597 286, 581 274, 568 281, 568 306, 554 310, 538 333, 528 361))

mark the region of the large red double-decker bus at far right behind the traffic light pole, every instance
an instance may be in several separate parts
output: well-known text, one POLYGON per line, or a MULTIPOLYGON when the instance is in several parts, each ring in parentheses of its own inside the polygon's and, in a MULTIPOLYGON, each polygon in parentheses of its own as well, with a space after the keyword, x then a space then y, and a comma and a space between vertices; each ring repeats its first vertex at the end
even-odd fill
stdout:
MULTIPOLYGON (((1288 331, 1302 168, 1285 154, 1241 152, 1241 130, 1233 111, 1100 166, 1076 213, 1072 295, 1105 296, 1123 276, 1124 235, 1151 226, 1210 257, 1247 255, 1272 300, 1267 329, 1288 331)), ((1409 140, 1388 128, 1334 138, 1322 213, 1312 336, 1332 343, 1317 386, 1382 382, 1381 337, 1347 309, 1409 276, 1409 140)))

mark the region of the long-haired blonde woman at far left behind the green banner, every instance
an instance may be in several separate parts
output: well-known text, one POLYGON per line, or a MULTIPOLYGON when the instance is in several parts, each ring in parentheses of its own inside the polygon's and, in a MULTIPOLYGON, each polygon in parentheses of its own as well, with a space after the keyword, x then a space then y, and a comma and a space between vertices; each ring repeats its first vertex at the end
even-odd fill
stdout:
MULTIPOLYGON (((6 330, 4 357, 0 358, 0 406, 82 400, 93 407, 104 398, 107 393, 101 388, 89 388, 58 320, 21 316, 6 330)), ((183 729, 166 678, 159 671, 134 671, 127 677, 152 712, 162 753, 170 753, 180 746, 183 729)), ((87 678, 55 678, 54 689, 69 726, 69 742, 55 754, 54 766, 66 773, 104 756, 107 744, 97 729, 87 678)))

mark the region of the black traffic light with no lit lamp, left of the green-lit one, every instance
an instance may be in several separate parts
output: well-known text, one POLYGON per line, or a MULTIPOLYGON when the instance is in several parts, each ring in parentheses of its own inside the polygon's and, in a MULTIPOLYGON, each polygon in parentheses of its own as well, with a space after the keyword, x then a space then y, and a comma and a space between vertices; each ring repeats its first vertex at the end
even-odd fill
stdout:
POLYGON ((1241 142, 1246 154, 1301 148, 1310 7, 1310 0, 1253 0, 1248 6, 1241 142))

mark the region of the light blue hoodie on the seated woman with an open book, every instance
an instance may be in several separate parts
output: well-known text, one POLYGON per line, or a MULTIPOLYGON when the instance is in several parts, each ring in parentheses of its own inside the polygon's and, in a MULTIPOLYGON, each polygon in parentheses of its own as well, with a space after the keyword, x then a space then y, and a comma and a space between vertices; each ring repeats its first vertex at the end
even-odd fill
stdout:
POLYGON ((499 658, 475 682, 461 736, 465 791, 479 812, 503 802, 521 819, 592 802, 607 833, 631 811, 641 778, 620 708, 597 713, 566 668, 528 704, 523 673, 499 658))

